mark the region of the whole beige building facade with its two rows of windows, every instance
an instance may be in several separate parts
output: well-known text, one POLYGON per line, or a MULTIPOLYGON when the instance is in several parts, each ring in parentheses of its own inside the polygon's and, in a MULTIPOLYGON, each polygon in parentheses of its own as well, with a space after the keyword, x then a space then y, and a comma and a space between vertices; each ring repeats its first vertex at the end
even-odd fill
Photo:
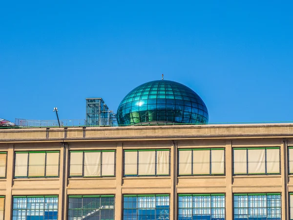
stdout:
POLYGON ((293 219, 291 147, 293 124, 1 129, 0 220, 293 219))

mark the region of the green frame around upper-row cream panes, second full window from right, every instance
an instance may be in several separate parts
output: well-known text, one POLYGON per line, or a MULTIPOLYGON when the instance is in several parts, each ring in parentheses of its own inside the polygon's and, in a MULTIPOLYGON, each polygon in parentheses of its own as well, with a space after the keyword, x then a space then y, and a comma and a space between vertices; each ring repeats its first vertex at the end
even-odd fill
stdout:
POLYGON ((226 149, 225 148, 179 148, 177 154, 177 176, 226 176, 226 149), (209 150, 209 174, 193 174, 193 151, 209 150), (211 151, 224 150, 224 173, 211 174, 211 151), (179 151, 191 151, 191 174, 179 174, 179 151))

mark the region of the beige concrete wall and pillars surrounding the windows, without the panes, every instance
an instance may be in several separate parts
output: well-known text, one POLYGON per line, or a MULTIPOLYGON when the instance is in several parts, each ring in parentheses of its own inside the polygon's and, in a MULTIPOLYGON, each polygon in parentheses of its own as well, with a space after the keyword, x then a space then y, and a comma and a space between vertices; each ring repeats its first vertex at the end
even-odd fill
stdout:
POLYGON ((120 220, 123 194, 156 193, 170 194, 172 220, 177 217, 177 194, 225 193, 226 219, 232 220, 233 193, 281 193, 282 220, 287 220, 288 193, 293 192, 293 175, 288 176, 287 169, 288 146, 293 146, 293 124, 0 130, 0 151, 8 153, 7 178, 0 179, 5 220, 11 219, 13 196, 58 195, 58 219, 65 220, 68 195, 114 194, 115 219, 120 220), (177 149, 191 147, 225 148, 226 175, 178 177, 177 149), (233 176, 232 148, 238 147, 280 147, 281 175, 233 176), (123 176, 123 150, 160 148, 170 149, 170 176, 123 176), (94 149, 116 150, 116 176, 69 178, 69 150, 94 149), (13 178, 14 152, 34 150, 61 152, 60 177, 13 178))

